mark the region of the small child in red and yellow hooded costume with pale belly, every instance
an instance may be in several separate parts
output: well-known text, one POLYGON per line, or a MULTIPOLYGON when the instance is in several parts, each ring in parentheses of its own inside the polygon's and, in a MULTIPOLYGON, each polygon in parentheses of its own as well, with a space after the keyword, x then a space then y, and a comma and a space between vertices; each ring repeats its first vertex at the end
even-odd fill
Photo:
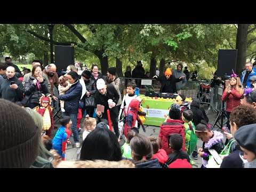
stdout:
POLYGON ((42 135, 46 134, 48 137, 51 138, 51 133, 54 128, 54 120, 52 115, 52 110, 54 107, 51 106, 52 98, 45 97, 44 94, 42 94, 42 97, 39 99, 39 103, 41 104, 41 107, 37 106, 33 110, 39 113, 43 116, 43 131, 42 135))

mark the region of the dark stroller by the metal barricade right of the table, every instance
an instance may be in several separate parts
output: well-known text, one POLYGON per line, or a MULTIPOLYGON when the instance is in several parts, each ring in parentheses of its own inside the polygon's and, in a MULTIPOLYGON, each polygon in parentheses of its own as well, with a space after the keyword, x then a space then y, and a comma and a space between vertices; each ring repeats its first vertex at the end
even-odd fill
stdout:
POLYGON ((210 84, 211 82, 207 79, 201 79, 199 84, 199 90, 197 92, 197 98, 201 100, 201 102, 210 103, 211 95, 210 95, 210 84))

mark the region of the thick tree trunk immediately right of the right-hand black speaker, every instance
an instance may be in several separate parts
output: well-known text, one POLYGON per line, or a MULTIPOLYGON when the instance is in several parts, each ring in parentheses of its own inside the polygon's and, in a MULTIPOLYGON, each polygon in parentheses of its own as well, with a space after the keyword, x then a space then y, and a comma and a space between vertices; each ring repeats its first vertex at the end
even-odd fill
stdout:
POLYGON ((236 60, 236 71, 235 73, 241 76, 246 63, 246 51, 247 51, 247 31, 249 24, 238 24, 237 35, 236 35, 236 49, 237 60, 236 60))

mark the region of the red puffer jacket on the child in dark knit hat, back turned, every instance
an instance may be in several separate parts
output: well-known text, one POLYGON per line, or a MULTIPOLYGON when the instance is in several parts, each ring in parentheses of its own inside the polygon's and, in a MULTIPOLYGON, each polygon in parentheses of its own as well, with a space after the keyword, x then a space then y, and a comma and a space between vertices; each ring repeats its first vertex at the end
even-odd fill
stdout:
POLYGON ((181 150, 186 151, 185 147, 185 126, 182 124, 183 122, 178 119, 167 119, 167 121, 160 125, 161 129, 159 132, 159 140, 162 141, 161 148, 166 151, 166 154, 169 155, 172 153, 172 150, 168 146, 169 135, 173 133, 181 134, 183 139, 183 145, 181 150))

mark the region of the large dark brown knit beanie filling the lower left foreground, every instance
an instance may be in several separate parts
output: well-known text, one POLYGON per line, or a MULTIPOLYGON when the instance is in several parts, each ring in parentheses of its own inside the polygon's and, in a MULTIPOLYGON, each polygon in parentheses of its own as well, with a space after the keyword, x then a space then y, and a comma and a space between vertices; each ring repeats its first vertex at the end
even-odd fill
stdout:
POLYGON ((0 99, 0 168, 28 168, 39 149, 39 129, 13 102, 0 99))

